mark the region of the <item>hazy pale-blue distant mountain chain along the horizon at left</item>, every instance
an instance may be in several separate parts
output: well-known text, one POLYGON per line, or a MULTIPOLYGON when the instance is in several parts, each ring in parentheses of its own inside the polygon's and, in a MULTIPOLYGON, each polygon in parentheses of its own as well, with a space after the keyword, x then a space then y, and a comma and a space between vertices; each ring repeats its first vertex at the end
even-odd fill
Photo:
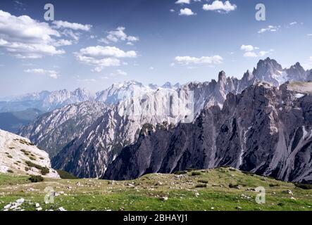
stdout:
MULTIPOLYGON (((164 89, 177 89, 180 84, 163 86, 164 89)), ((22 96, 11 96, 0 99, 0 113, 10 113, 15 111, 27 110, 29 108, 37 108, 43 112, 49 112, 64 105, 74 103, 82 103, 84 101, 101 101, 107 104, 116 104, 125 96, 132 95, 135 91, 140 93, 155 91, 161 88, 155 84, 145 86, 136 81, 113 84, 104 91, 93 93, 86 89, 75 89, 68 91, 66 89, 60 91, 42 91, 38 93, 25 94, 22 96)))

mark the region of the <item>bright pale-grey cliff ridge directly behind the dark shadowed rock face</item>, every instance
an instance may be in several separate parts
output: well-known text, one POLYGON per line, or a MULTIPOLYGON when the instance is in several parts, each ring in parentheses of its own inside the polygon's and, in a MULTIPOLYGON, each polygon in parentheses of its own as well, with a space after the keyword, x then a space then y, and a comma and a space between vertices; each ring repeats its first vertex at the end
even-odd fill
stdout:
POLYGON ((179 93, 159 89, 144 98, 120 101, 65 146, 53 158, 53 166, 80 177, 104 176, 107 165, 123 147, 137 140, 144 124, 176 124, 192 117, 192 108, 187 107, 189 91, 179 93))

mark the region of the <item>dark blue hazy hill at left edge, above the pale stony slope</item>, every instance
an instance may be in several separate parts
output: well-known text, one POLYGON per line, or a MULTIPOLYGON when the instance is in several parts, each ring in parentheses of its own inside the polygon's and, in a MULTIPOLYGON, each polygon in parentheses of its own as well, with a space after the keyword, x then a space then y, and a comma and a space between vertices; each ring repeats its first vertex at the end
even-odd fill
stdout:
POLYGON ((0 129, 16 134, 19 129, 34 121, 42 112, 37 109, 27 109, 20 112, 0 113, 0 129))

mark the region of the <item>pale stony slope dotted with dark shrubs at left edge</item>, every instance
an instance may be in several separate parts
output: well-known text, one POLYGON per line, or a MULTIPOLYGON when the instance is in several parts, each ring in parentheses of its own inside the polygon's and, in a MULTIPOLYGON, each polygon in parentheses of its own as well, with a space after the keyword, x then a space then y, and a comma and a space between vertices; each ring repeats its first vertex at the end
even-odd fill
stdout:
POLYGON ((0 129, 0 172, 59 178, 49 155, 28 139, 0 129))

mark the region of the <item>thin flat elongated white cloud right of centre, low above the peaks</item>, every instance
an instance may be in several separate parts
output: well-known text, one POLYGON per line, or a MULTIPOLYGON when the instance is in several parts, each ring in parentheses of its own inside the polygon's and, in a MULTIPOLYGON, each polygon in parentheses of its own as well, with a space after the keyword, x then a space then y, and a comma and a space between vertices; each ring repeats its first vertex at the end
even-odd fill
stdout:
POLYGON ((221 56, 202 56, 200 58, 191 56, 177 56, 175 62, 181 65, 196 65, 196 64, 221 64, 223 58, 221 56))

